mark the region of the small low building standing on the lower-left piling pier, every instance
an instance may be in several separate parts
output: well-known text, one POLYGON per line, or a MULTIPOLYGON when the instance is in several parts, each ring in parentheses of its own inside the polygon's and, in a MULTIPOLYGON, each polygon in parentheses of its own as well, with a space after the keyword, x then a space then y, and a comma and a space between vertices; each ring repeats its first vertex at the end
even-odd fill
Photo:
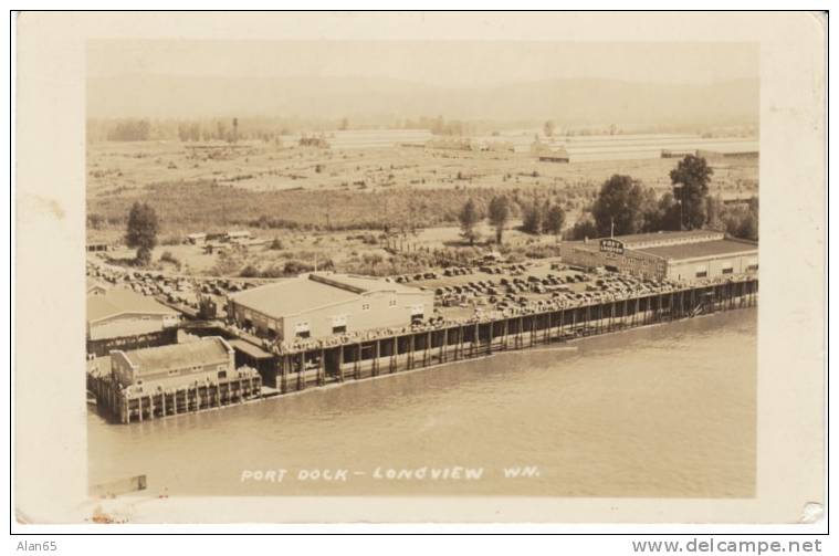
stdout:
POLYGON ((179 388, 232 378, 235 373, 233 348, 217 336, 130 352, 115 349, 109 355, 112 377, 123 388, 179 388))

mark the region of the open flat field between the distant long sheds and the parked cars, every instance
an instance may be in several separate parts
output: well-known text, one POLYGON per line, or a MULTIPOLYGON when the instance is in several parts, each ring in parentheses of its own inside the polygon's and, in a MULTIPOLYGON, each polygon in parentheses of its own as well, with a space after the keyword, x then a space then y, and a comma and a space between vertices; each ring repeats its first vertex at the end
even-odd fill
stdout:
MULTIPOLYGON (((158 266, 187 274, 281 275, 317 264, 392 274, 470 253, 457 223, 470 198, 481 211, 499 193, 515 201, 504 250, 521 256, 538 245, 549 251, 556 242, 516 230, 521 207, 559 203, 568 227, 611 175, 630 175, 663 193, 678 162, 556 164, 528 153, 417 146, 324 149, 289 140, 193 147, 180 141, 88 145, 88 241, 118 244, 128 210, 139 200, 151 204, 160 219, 161 245, 153 254, 158 266), (224 255, 183 244, 188 233, 234 228, 251 230, 264 243, 224 255), (165 252, 176 262, 160 262, 165 252)), ((713 167, 712 193, 757 193, 756 160, 713 167)), ((485 222, 479 228, 480 241, 494 235, 485 222)), ((112 252, 125 260, 132 254, 126 249, 112 252)))

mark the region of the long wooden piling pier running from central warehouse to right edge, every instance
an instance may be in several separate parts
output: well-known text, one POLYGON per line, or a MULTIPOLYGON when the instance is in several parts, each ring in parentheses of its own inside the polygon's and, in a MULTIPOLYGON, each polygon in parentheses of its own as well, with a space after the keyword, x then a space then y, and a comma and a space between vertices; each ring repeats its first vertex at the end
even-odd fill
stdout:
POLYGON ((287 394, 756 305, 757 279, 749 277, 301 349, 273 356, 260 371, 266 385, 287 394))

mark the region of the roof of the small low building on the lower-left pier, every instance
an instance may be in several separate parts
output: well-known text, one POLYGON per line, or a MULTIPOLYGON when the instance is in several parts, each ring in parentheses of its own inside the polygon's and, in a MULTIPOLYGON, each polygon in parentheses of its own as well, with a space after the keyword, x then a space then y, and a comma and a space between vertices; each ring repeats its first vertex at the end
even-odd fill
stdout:
POLYGON ((212 364, 220 359, 227 359, 228 349, 230 349, 230 346, 227 342, 218 336, 213 336, 186 344, 172 344, 169 346, 125 352, 125 357, 133 365, 139 367, 140 374, 144 374, 212 364))

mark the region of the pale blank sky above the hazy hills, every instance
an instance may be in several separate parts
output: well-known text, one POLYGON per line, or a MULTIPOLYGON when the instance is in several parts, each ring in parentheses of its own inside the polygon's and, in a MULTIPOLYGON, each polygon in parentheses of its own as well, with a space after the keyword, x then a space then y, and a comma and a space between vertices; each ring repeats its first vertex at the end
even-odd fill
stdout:
POLYGON ((609 78, 711 84, 758 77, 756 43, 94 41, 88 75, 390 77, 471 87, 609 78))

